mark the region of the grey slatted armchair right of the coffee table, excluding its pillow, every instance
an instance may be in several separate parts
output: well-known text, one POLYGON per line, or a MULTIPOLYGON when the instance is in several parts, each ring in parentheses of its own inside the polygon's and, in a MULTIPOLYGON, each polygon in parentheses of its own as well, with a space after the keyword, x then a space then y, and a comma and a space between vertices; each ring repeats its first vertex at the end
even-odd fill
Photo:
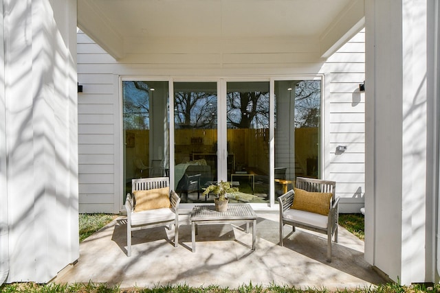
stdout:
POLYGON ((295 193, 294 190, 287 191, 278 198, 280 204, 280 245, 284 245, 283 227, 285 224, 291 225, 293 231, 295 231, 295 227, 300 227, 327 234, 327 261, 330 262, 331 238, 333 235, 335 242, 338 242, 339 198, 335 196, 336 182, 298 177, 296 178, 296 188, 314 193, 331 194, 331 200, 328 202, 329 213, 328 215, 322 215, 311 211, 292 209, 295 193))

